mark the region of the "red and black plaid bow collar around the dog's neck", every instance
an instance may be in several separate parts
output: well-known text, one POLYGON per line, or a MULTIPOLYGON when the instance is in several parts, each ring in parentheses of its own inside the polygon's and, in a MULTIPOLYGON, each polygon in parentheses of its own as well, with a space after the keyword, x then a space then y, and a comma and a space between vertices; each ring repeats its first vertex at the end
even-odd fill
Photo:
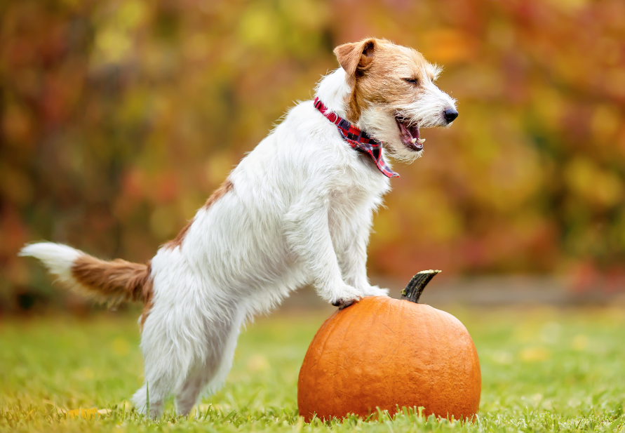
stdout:
POLYGON ((343 139, 349 143, 352 149, 356 149, 359 152, 371 156, 373 162, 375 162, 379 171, 382 171, 383 175, 387 176, 387 178, 399 177, 397 173, 387 166, 386 161, 384 161, 384 157, 382 156, 382 142, 375 140, 375 138, 370 138, 365 131, 354 128, 349 121, 330 112, 328 107, 325 107, 319 98, 315 98, 315 108, 327 117, 332 124, 335 124, 339 128, 343 139))

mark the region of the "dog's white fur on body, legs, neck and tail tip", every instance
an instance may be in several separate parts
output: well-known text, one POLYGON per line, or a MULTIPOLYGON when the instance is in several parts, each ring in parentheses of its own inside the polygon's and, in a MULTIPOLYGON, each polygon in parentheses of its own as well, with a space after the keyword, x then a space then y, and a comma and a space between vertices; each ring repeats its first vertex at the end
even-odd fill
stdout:
MULTIPOLYGON (((344 116, 349 91, 337 69, 316 95, 344 116)), ((403 109, 416 112, 422 103, 403 109)), ((424 110, 429 119, 432 108, 424 110)), ((369 112, 360 124, 376 131, 376 122, 369 112)), ((182 245, 163 246, 152 260, 153 306, 141 341, 145 385, 133 397, 140 411, 147 411, 149 386, 152 415, 170 392, 188 413, 202 389, 224 383, 242 324, 304 284, 328 302, 387 294, 369 284, 365 265, 372 214, 389 179, 311 101, 291 109, 229 179, 233 189, 198 211, 182 245)), ((37 244, 22 254, 67 279, 80 253, 37 244)))

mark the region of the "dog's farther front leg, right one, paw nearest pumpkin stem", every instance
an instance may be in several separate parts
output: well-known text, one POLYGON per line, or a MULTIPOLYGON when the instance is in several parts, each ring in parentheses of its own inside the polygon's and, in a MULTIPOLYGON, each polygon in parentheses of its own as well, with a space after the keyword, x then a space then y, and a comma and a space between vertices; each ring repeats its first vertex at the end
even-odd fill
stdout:
POLYGON ((371 286, 367 277, 367 245, 373 219, 372 211, 359 213, 367 215, 364 220, 352 220, 347 243, 340 249, 340 267, 343 279, 350 286, 361 291, 363 296, 388 295, 387 288, 371 286))

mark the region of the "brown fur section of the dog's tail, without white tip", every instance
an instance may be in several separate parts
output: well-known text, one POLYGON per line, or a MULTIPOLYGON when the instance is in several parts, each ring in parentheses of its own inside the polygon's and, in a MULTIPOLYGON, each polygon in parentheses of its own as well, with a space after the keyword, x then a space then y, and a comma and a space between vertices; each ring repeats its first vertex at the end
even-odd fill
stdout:
POLYGON ((82 255, 72 265, 72 277, 83 291, 95 298, 106 298, 113 303, 145 301, 152 293, 150 270, 149 262, 146 265, 121 259, 107 262, 82 255))

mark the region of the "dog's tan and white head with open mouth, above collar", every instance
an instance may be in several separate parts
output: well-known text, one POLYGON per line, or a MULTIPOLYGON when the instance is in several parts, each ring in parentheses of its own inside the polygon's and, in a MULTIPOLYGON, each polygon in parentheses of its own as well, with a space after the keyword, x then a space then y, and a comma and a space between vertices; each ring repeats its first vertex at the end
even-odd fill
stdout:
POLYGON ((347 119, 394 158, 421 156, 419 128, 449 126, 458 116, 455 100, 434 84, 441 68, 412 48, 370 38, 334 52, 351 88, 347 119))

